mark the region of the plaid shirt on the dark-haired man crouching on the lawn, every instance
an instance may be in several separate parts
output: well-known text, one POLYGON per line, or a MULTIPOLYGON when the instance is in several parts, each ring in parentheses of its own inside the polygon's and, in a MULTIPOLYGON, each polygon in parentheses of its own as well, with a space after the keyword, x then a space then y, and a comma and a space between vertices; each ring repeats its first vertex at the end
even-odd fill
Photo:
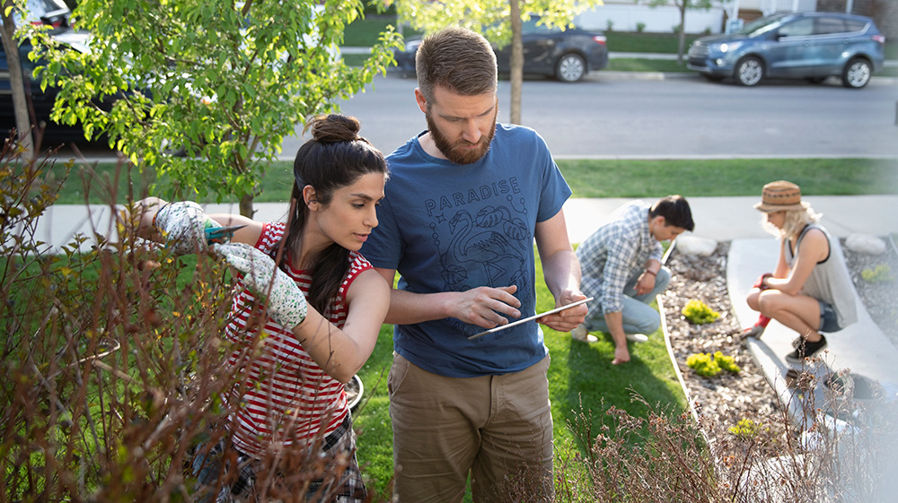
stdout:
POLYGON ((612 213, 611 221, 577 247, 583 279, 580 291, 594 296, 603 313, 623 310, 621 298, 630 277, 654 258, 661 261, 662 247, 648 231, 648 209, 633 201, 612 213))

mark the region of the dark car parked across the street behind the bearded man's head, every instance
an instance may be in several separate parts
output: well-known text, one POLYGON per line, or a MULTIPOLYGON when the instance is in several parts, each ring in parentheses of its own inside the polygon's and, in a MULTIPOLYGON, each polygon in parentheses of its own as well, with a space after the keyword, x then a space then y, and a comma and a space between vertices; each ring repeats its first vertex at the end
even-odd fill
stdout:
MULTIPOLYGON (((524 44, 524 74, 554 77, 561 82, 577 82, 594 70, 608 65, 608 48, 600 32, 580 28, 549 28, 537 25, 540 18, 532 16, 521 30, 524 44)), ((396 64, 407 74, 415 73, 415 51, 420 38, 406 40, 405 50, 396 52, 396 64)), ((500 73, 511 71, 511 44, 496 51, 500 73)))

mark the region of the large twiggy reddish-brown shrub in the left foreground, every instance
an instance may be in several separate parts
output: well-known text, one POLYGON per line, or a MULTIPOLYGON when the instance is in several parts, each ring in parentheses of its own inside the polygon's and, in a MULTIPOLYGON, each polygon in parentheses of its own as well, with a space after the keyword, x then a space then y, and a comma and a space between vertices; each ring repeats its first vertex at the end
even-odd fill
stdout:
MULTIPOLYGON (((48 250, 38 221, 66 181, 50 166, 22 160, 10 142, 0 152, 0 499, 195 500, 192 453, 228 439, 223 398, 263 342, 219 336, 231 308, 224 265, 147 247, 130 221, 119 221, 119 242, 95 231, 92 247, 75 236, 48 250), (241 362, 227 365, 234 349, 241 362)), ((329 476, 305 449, 261 463, 255 493, 265 501, 304 500, 310 479, 329 476)))

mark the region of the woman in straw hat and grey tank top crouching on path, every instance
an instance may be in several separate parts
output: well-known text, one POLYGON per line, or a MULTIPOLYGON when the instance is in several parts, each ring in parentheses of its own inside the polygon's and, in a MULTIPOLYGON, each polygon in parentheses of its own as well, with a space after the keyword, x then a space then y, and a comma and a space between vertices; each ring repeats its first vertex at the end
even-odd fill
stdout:
POLYGON ((765 227, 780 238, 779 261, 748 294, 748 305, 761 316, 743 334, 760 337, 775 319, 799 334, 786 360, 801 362, 826 346, 821 332, 838 332, 857 321, 854 286, 838 254, 832 254, 838 244, 817 223, 820 215, 801 200, 797 185, 770 182, 754 207, 764 213, 765 227))

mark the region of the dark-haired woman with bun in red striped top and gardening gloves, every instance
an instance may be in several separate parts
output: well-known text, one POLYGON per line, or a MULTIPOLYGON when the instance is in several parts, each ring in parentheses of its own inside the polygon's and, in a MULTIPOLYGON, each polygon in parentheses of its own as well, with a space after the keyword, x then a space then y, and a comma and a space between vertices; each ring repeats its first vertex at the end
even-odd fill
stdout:
MULTIPOLYGON (((163 239, 175 253, 211 249, 242 273, 225 326, 234 343, 228 364, 245 377, 226 397, 239 477, 219 501, 251 494, 260 469, 288 479, 266 460, 291 452, 326 460, 328 477, 311 483, 308 500, 365 499, 343 385, 374 350, 389 308, 390 286, 358 253, 377 225, 388 173, 383 154, 358 130, 355 117, 340 115, 306 125, 313 138, 296 154, 286 223, 207 215, 192 202, 139 203, 142 235, 163 239), (230 243, 207 240, 210 228, 241 225, 230 243), (254 344, 260 349, 248 351, 254 344)), ((221 478, 223 458, 233 458, 226 450, 200 449, 194 472, 201 483, 221 478)))

